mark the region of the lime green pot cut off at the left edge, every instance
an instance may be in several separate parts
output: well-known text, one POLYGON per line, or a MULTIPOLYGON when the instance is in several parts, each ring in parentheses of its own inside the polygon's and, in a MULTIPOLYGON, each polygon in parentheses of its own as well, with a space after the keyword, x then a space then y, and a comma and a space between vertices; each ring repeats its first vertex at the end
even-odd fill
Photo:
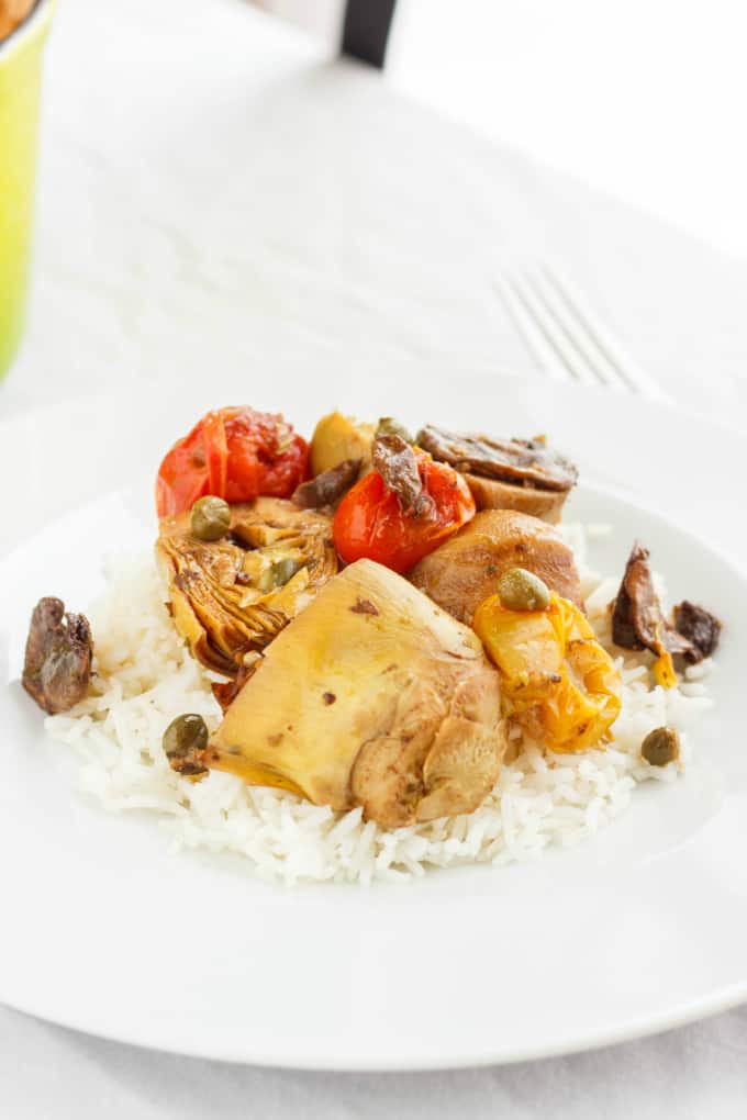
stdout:
POLYGON ((28 292, 41 50, 55 0, 37 0, 0 43, 0 379, 24 328, 28 292))

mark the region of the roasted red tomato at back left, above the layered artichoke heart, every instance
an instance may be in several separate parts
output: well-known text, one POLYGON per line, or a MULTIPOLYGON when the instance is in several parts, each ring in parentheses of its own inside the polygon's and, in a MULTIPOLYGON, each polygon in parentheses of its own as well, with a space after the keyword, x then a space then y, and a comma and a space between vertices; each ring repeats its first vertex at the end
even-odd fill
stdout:
POLYGON ((206 494, 226 502, 290 497, 307 477, 308 457, 306 440, 281 416, 250 408, 208 412, 160 465, 158 516, 190 510, 206 494))

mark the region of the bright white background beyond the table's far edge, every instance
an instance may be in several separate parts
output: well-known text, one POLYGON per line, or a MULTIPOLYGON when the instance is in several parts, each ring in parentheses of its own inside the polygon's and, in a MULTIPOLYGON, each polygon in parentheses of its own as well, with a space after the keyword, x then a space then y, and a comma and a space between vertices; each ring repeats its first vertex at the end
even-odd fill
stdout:
MULTIPOLYGON (((260 0, 334 39, 342 0, 260 0)), ((398 0, 386 80, 747 255, 744 0, 398 0)))

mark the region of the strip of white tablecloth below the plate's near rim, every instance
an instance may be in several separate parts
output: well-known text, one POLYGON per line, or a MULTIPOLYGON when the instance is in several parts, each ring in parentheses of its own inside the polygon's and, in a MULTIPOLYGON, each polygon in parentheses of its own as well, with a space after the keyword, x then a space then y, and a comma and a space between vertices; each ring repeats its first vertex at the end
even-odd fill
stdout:
POLYGON ((222 1065, 7 1009, 0 1037, 0 1114, 8 1120, 744 1120, 747 1103, 747 1007, 600 1051, 445 1073, 222 1065))

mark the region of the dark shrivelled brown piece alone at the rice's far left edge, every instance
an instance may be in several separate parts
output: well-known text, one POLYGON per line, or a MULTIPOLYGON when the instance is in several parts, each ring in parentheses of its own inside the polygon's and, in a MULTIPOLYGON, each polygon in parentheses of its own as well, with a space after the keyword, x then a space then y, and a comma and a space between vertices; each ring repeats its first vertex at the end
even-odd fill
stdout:
POLYGON ((67 711, 88 689, 93 641, 84 615, 65 614, 62 599, 39 599, 26 642, 22 684, 49 715, 67 711))

